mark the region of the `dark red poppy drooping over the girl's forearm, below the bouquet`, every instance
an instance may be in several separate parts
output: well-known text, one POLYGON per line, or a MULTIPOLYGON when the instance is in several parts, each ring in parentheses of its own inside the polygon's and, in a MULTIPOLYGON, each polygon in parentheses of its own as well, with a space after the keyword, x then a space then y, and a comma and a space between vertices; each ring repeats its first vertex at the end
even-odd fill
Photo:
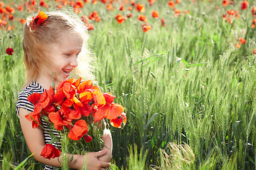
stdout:
POLYGON ((60 157, 60 154, 61 154, 60 149, 57 149, 51 144, 46 144, 43 147, 43 150, 40 155, 46 159, 51 159, 55 157, 60 157))

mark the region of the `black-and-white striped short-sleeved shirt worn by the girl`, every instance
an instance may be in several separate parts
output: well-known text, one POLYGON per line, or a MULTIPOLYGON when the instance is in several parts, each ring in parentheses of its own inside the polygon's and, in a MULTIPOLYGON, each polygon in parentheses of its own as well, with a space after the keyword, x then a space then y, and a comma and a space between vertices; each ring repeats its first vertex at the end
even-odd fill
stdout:
MULTIPOLYGON (((25 108, 28 111, 28 113, 33 112, 34 106, 30 101, 28 101, 27 97, 34 93, 43 94, 43 91, 44 91, 43 87, 40 86, 38 82, 32 81, 32 83, 26 86, 26 88, 24 88, 21 91, 21 93, 18 95, 18 102, 16 104, 16 113, 18 114, 18 108, 25 108)), ((58 135, 57 130, 50 130, 48 128, 49 123, 46 122, 46 120, 41 119, 41 125, 44 128, 43 137, 44 137, 45 143, 49 143, 52 140, 49 133, 53 135, 58 135)), ((60 142, 53 142, 52 145, 57 148, 61 148, 60 142)), ((46 165, 44 168, 44 170, 49 170, 49 169, 58 169, 58 168, 53 166, 48 166, 48 165, 46 165)))

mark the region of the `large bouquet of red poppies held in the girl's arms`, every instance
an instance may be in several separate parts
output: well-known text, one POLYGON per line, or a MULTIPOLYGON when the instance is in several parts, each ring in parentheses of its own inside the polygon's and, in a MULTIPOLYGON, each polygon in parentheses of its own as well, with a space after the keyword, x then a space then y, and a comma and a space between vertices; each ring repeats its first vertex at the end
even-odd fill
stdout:
MULTIPOLYGON (((72 154, 98 151, 103 144, 101 136, 105 124, 102 122, 107 119, 115 128, 123 128, 127 122, 124 108, 113 103, 114 98, 110 93, 102 93, 91 80, 67 79, 56 89, 50 86, 43 94, 28 96, 28 101, 35 107, 26 118, 32 121, 33 128, 41 126, 40 118, 50 123, 49 128, 59 134, 53 135, 53 142, 64 142, 63 137, 68 136, 72 154)), ((51 143, 46 144, 41 152, 41 156, 48 159, 60 154, 60 149, 51 143)))

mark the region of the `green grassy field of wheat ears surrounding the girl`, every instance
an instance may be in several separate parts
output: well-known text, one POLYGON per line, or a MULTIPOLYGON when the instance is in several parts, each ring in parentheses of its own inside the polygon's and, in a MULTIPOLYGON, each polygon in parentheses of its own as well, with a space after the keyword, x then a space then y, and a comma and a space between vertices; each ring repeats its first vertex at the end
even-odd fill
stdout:
MULTIPOLYGON (((15 11, 1 12, 0 18, 0 169, 41 169, 42 164, 28 158, 31 153, 15 113, 25 78, 20 20, 62 1, 44 1, 48 6, 36 1, 30 8, 23 5, 31 1, 1 2, 0 9, 9 5, 15 11), (7 47, 14 49, 13 55, 6 54, 7 47)), ((78 16, 97 11, 101 18, 90 21, 95 76, 127 113, 124 129, 111 128, 112 163, 119 169, 256 169, 256 1, 247 2, 242 10, 242 1, 223 6, 220 0, 181 0, 171 8, 169 1, 149 5, 136 0, 144 13, 130 1, 113 1, 111 11, 109 1, 83 1, 78 7, 78 16), (119 10, 122 3, 124 11, 119 10), (228 10, 237 10, 239 17, 228 10), (118 13, 133 16, 119 24, 118 13), (151 26, 147 33, 140 14, 151 26)))

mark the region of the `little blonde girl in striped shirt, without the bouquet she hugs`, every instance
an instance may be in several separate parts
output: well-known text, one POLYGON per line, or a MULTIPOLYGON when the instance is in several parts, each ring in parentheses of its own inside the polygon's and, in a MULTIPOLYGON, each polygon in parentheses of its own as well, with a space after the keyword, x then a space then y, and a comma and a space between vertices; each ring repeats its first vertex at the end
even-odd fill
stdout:
MULTIPOLYGON (((87 37, 87 28, 80 18, 60 11, 40 12, 36 18, 28 17, 23 28, 26 81, 24 89, 18 96, 16 112, 20 118, 28 149, 38 162, 46 164, 45 169, 61 167, 62 155, 54 159, 41 157, 44 145, 52 140, 49 135, 50 129, 44 120, 41 120, 44 129, 40 126, 32 128, 31 121, 25 118, 25 115, 33 111, 33 104, 27 100, 27 97, 33 93, 42 94, 45 89, 49 89, 52 81, 58 86, 73 70, 80 77, 92 79, 90 52, 86 45, 87 37)), ((57 131, 53 133, 58 134, 57 131)), ((110 130, 104 131, 102 139, 105 147, 100 152, 75 154, 72 161, 68 160, 68 166, 72 169, 82 169, 83 165, 86 165, 88 170, 107 169, 112 154, 110 130)), ((61 147, 60 142, 53 145, 61 147)), ((67 157, 69 156, 68 154, 67 157)))

